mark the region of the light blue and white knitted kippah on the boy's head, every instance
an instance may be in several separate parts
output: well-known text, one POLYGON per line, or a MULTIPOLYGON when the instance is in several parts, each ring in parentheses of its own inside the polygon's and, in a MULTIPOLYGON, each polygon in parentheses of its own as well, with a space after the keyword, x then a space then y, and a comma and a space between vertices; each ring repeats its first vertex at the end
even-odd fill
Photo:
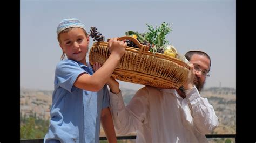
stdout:
POLYGON ((84 24, 79 19, 76 19, 76 18, 63 19, 60 21, 57 27, 57 35, 63 30, 71 27, 79 27, 85 30, 84 24))

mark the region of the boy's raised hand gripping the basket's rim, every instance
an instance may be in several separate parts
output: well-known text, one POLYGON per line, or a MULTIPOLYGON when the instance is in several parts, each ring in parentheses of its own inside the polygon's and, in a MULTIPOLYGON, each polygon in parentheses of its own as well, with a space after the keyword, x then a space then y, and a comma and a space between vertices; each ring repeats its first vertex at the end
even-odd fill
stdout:
POLYGON ((109 40, 109 51, 112 54, 118 55, 120 58, 124 55, 127 43, 124 41, 118 41, 117 37, 109 40))

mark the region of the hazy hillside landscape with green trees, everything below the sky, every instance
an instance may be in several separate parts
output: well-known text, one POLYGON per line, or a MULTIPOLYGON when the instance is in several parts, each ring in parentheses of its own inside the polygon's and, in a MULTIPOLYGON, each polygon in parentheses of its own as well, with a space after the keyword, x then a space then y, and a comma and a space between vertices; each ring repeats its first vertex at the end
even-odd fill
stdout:
MULTIPOLYGON (((121 88, 121 90, 125 104, 129 103, 136 90, 127 88, 121 88)), ((236 134, 236 90, 226 87, 211 87, 204 89, 201 95, 208 98, 219 118, 219 127, 215 128, 211 134, 236 134)), ((21 87, 21 139, 44 138, 49 126, 51 99, 52 91, 21 87)), ((105 136, 103 130, 100 131, 100 136, 105 136)), ((234 142, 233 138, 209 140, 212 142, 225 142, 226 140, 234 142)))

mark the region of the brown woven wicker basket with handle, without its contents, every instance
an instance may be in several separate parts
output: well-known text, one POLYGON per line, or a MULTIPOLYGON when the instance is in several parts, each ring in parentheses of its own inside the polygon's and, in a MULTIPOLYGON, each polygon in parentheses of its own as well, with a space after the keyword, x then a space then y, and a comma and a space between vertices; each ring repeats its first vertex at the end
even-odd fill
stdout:
MULTIPOLYGON (((187 79, 189 66, 171 56, 149 52, 149 47, 139 43, 130 36, 120 37, 118 40, 131 40, 139 48, 126 47, 125 54, 118 63, 112 76, 117 80, 150 85, 158 88, 178 89, 187 79)), ((109 57, 108 42, 93 43, 89 61, 103 65, 109 57)))

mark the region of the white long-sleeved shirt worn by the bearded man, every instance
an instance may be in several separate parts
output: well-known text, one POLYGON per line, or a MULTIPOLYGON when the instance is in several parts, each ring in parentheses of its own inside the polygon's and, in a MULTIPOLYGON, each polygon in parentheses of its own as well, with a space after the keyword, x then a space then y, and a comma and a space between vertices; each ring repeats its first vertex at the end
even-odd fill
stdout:
POLYGON ((196 87, 181 98, 174 89, 143 87, 125 107, 122 93, 110 92, 116 133, 137 132, 136 142, 208 142, 218 117, 196 87))

